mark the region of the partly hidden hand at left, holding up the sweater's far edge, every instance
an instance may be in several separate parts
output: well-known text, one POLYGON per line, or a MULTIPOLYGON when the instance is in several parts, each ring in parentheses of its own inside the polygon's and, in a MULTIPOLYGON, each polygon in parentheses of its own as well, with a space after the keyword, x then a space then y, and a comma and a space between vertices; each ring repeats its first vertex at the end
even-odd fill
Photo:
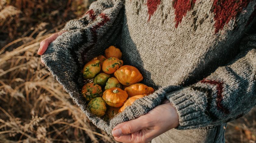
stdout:
MULTIPOLYGON (((48 48, 48 45, 52 41, 54 41, 59 35, 62 35, 64 32, 67 32, 67 31, 61 31, 61 32, 58 32, 58 33, 54 33, 50 37, 48 37, 48 38, 44 39, 43 41, 41 41, 40 48, 38 49, 37 54, 38 55, 43 55, 44 52, 46 51, 46 49, 48 48)), ((44 64, 42 58, 41 58, 41 62, 44 64)))

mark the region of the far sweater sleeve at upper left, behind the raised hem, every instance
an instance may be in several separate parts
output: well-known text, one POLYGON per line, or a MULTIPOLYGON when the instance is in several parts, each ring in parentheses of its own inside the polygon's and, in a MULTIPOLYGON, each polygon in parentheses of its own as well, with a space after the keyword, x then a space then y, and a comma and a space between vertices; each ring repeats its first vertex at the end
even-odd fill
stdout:
POLYGON ((90 26, 90 24, 93 23, 97 19, 97 17, 102 17, 102 13, 119 13, 120 6, 116 5, 122 4, 122 1, 123 0, 98 0, 91 3, 89 10, 84 15, 82 15, 79 19, 73 19, 68 21, 62 31, 86 28, 90 26))

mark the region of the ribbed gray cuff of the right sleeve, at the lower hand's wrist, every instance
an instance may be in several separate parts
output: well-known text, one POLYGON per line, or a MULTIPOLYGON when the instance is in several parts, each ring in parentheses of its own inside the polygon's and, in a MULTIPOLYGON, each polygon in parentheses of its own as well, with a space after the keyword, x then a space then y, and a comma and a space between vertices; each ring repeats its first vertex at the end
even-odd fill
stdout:
POLYGON ((190 87, 167 94, 166 98, 179 115, 179 126, 176 129, 199 128, 209 124, 204 113, 207 103, 205 96, 203 92, 191 90, 190 87))

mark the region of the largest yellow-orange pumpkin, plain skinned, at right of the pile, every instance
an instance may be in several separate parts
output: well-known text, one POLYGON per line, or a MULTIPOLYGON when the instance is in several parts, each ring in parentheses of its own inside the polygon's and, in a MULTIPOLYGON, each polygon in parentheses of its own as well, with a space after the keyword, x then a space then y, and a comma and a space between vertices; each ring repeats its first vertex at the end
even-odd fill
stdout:
POLYGON ((130 65, 124 65, 114 72, 114 75, 122 85, 130 86, 142 81, 143 76, 140 71, 130 65))

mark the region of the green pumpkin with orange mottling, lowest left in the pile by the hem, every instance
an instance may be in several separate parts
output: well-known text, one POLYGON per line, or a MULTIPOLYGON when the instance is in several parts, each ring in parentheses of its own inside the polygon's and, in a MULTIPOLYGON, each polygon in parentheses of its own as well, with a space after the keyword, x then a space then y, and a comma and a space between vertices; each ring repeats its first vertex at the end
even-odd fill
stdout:
POLYGON ((107 110, 106 102, 101 97, 92 99, 88 103, 87 108, 98 117, 104 116, 107 110))

